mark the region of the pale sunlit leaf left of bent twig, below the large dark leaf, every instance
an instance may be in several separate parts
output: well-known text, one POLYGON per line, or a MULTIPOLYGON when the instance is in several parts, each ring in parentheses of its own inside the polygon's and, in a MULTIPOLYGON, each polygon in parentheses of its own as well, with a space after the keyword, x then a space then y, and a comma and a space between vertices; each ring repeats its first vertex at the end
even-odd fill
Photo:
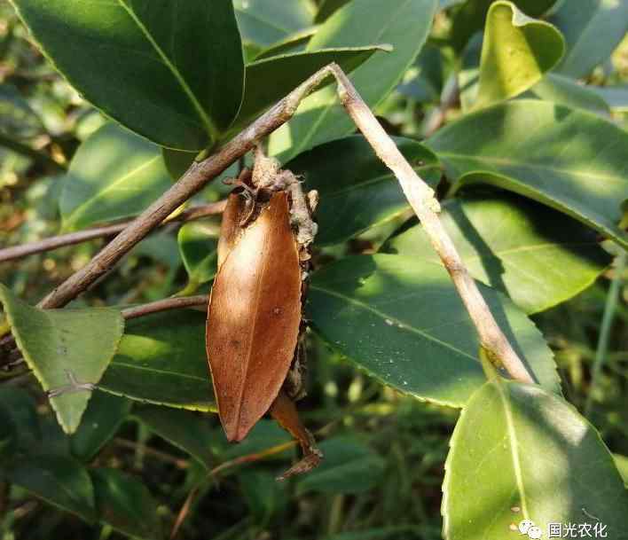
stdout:
POLYGON ((59 201, 62 230, 137 215, 171 186, 159 146, 108 123, 70 163, 59 201))

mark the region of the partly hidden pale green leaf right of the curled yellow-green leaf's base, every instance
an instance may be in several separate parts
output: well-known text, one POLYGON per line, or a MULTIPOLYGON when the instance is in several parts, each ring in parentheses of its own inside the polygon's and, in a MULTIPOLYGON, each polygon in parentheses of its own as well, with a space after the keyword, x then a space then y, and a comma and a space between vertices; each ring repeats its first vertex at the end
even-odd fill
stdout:
POLYGON ((532 96, 572 109, 585 109, 604 117, 610 116, 608 104, 593 87, 578 84, 563 75, 548 73, 529 92, 532 96))

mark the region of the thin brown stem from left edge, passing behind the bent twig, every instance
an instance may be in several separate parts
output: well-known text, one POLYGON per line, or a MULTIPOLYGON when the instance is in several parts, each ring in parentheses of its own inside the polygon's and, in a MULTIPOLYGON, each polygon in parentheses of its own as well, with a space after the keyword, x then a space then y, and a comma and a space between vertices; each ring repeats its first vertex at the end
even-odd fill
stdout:
MULTIPOLYGON (((225 200, 221 200, 212 204, 203 205, 200 207, 193 207, 175 217, 168 219, 160 224, 160 226, 169 225, 170 223, 183 223, 205 217, 207 215, 222 214, 224 210, 225 200)), ((68 234, 60 234, 59 236, 53 236, 48 239, 37 240, 36 242, 30 242, 28 244, 22 244, 21 246, 5 247, 0 249, 0 262, 12 261, 14 259, 20 259, 31 254, 44 253, 59 247, 73 246, 74 244, 80 244, 91 239, 100 239, 107 236, 112 236, 119 232, 124 231, 131 221, 114 223, 113 225, 104 225, 102 227, 94 227, 93 229, 86 229, 85 231, 70 232, 68 234)), ((0 326, 0 328, 2 328, 0 326)), ((1 330, 0 330, 1 335, 1 330)))

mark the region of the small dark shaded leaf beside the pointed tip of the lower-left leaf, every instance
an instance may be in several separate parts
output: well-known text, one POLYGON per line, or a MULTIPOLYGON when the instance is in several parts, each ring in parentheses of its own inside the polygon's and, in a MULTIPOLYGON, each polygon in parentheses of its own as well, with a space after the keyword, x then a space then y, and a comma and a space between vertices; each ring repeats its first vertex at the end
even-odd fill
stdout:
POLYGON ((130 400, 124 397, 96 392, 82 417, 81 426, 70 438, 73 455, 86 462, 95 458, 118 431, 130 408, 130 400))

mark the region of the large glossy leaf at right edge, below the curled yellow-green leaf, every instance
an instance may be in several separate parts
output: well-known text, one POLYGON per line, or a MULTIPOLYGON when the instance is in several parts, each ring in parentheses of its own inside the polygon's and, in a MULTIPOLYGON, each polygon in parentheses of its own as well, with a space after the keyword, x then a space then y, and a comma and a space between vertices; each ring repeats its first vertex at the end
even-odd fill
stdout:
POLYGON ((575 217, 628 247, 628 133, 584 111, 521 99, 467 114, 426 142, 456 189, 493 184, 575 217))

